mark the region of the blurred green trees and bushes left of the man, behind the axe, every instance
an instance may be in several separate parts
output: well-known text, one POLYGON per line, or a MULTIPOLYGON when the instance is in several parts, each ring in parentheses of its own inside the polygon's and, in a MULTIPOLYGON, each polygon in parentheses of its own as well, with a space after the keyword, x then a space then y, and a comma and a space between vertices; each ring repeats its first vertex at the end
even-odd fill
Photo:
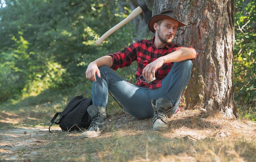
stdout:
POLYGON ((129 4, 118 0, 5 0, 5 5, 0 7, 0 101, 81 84, 92 60, 119 51, 135 33, 130 23, 102 46, 94 44, 130 13, 129 4))

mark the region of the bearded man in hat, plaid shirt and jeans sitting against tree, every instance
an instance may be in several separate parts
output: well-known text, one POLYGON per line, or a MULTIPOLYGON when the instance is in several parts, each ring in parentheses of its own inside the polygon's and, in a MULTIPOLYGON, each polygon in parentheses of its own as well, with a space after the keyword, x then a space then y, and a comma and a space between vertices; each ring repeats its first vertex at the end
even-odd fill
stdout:
POLYGON ((155 33, 152 39, 139 40, 88 65, 86 78, 93 81, 92 105, 88 107, 92 122, 81 138, 97 137, 106 129, 108 91, 133 117, 153 117, 153 130, 168 128, 167 118, 178 109, 180 95, 190 80, 191 60, 197 55, 192 47, 172 43, 177 28, 184 25, 177 20, 174 11, 162 11, 148 22, 150 31, 155 33), (113 71, 133 61, 138 64, 135 85, 113 71), (141 75, 145 80, 156 79, 147 83, 141 75))

